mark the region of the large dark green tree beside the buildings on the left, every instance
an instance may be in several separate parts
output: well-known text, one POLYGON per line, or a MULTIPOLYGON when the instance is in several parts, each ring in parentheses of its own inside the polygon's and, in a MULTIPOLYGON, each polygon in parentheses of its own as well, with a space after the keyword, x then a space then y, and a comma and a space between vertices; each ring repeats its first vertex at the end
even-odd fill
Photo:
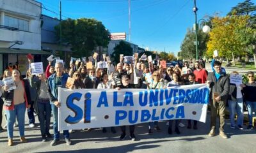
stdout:
MULTIPOLYGON (((61 21, 62 43, 72 45, 75 57, 92 55, 95 47, 107 47, 109 31, 102 22, 90 18, 79 18, 61 21)), ((60 38, 60 24, 56 25, 56 36, 60 38)))

